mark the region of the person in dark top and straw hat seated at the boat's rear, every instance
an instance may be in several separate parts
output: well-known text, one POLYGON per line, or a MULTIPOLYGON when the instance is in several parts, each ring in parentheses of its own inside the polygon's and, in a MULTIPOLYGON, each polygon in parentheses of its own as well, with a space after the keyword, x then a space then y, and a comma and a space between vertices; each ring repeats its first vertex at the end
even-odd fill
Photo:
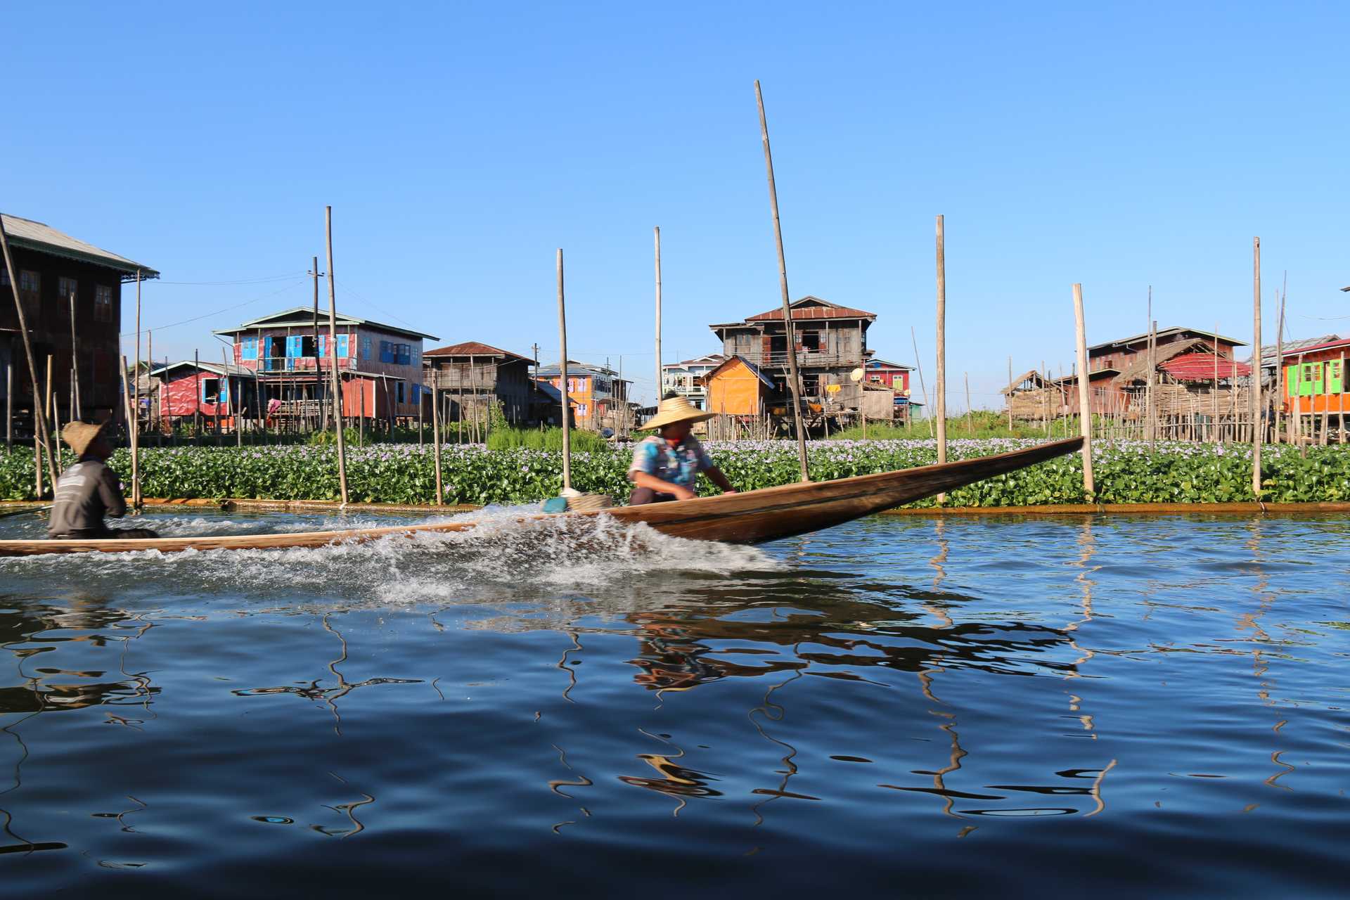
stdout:
POLYGON ((57 482, 47 536, 58 540, 159 537, 148 528, 112 530, 104 525, 104 515, 126 515, 127 499, 122 495, 117 474, 107 466, 112 445, 104 437, 103 428, 70 422, 61 429, 61 437, 80 461, 62 472, 57 482))

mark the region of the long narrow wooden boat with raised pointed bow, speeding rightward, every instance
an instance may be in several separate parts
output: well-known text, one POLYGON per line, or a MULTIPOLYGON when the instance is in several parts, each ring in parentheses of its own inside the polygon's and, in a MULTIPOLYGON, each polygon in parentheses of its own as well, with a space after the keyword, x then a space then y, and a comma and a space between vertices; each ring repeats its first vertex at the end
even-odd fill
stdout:
MULTIPOLYGON (((620 522, 645 522, 663 534, 701 541, 757 544, 779 537, 815 532, 832 525, 871 515, 986 478, 1013 472, 1056 456, 1072 453, 1081 437, 1040 444, 1027 449, 979 456, 942 466, 922 466, 878 475, 840 478, 832 482, 802 482, 765 487, 741 494, 701 497, 676 503, 620 506, 606 510, 522 515, 521 522, 574 519, 609 515, 620 522)), ((373 541, 392 534, 418 532, 464 532, 474 521, 390 525, 332 532, 289 534, 224 534, 220 537, 158 537, 142 540, 88 541, 0 541, 0 556, 45 553, 126 553, 131 551, 221 551, 325 546, 350 541, 373 541)))

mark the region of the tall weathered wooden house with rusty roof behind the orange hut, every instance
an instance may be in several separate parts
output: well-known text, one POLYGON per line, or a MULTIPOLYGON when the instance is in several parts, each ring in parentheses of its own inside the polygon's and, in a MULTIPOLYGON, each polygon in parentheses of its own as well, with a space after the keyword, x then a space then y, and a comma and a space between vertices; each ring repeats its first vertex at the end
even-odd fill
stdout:
MULTIPOLYGON (((876 321, 876 313, 819 297, 802 297, 791 310, 802 398, 829 405, 838 413, 857 412, 861 390, 849 374, 872 355, 867 348, 867 329, 876 321), (830 390, 830 386, 837 387, 830 390)), ((788 394, 787 329, 782 309, 709 328, 721 339, 725 356, 753 363, 774 381, 775 394, 788 394)))

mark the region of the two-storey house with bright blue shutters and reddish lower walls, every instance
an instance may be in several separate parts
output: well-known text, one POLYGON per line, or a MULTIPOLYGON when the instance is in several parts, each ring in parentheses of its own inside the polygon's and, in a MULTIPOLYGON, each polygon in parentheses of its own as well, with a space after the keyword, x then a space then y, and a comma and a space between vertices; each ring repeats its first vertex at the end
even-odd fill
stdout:
POLYGON ((296 306, 215 333, 231 337, 235 364, 256 372, 263 402, 281 401, 284 416, 324 414, 336 356, 343 416, 416 420, 423 340, 435 336, 339 313, 329 348, 327 316, 317 322, 316 333, 313 310, 296 306))

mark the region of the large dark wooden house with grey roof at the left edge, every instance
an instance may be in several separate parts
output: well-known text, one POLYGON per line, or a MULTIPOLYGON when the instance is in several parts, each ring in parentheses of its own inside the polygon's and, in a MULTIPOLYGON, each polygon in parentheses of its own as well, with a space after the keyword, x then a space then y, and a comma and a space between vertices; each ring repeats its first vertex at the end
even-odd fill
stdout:
MULTIPOLYGON (((159 278, 148 266, 99 250, 38 221, 4 216, 19 301, 23 304, 38 378, 51 356, 51 393, 61 421, 70 421, 72 368, 80 370, 80 413, 86 421, 122 416, 122 285, 159 278), (72 296, 74 322, 70 321, 72 296), (72 344, 74 341, 74 344, 72 344)), ((32 385, 19 336, 9 273, 0 260, 0 370, 12 366, 14 417, 19 434, 32 433, 32 385)), ((0 403, 7 402, 0 379, 0 403)))

